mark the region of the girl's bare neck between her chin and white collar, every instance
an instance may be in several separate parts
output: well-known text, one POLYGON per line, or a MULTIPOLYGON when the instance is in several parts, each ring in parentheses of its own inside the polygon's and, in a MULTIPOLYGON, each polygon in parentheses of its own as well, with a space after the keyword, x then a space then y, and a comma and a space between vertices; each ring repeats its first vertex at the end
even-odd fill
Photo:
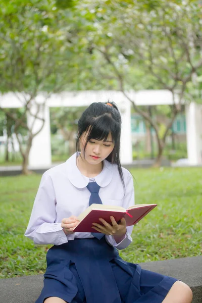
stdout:
POLYGON ((100 162, 97 165, 89 164, 85 159, 84 156, 78 156, 76 158, 76 164, 82 175, 93 178, 96 177, 100 172, 103 170, 103 162, 100 162))

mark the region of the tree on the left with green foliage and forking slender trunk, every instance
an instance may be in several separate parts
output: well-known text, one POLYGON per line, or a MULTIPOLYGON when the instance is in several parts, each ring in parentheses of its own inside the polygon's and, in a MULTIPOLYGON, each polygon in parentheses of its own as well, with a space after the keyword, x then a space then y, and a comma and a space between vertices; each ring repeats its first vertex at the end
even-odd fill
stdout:
POLYGON ((72 82, 67 70, 74 62, 74 28, 64 29, 64 22, 72 20, 72 15, 57 9, 51 0, 2 1, 1 4, 0 90, 15 93, 22 115, 16 116, 6 105, 1 110, 15 122, 14 131, 23 158, 22 171, 28 174, 29 152, 34 136, 44 125, 41 112, 46 100, 49 94, 63 90, 72 82), (27 123, 27 116, 32 118, 31 124, 27 123), (34 132, 36 121, 40 121, 41 126, 34 132), (27 130, 25 148, 19 137, 21 127, 27 130))

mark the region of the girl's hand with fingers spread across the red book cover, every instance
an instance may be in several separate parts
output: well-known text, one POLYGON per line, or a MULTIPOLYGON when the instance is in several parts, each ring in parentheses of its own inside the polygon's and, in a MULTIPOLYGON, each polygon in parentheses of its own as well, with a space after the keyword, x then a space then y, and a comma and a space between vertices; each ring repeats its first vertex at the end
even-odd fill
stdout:
POLYGON ((117 224, 114 217, 110 217, 110 219, 112 221, 112 225, 107 223, 104 219, 99 219, 99 221, 102 222, 104 225, 92 223, 93 225, 92 228, 106 235, 112 235, 118 237, 124 236, 126 234, 126 220, 122 218, 121 222, 117 224))

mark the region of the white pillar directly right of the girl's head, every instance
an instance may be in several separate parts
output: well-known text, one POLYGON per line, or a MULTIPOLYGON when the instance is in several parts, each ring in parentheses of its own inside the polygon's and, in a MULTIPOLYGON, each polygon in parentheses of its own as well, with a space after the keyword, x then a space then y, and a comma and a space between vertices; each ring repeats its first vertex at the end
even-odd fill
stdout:
POLYGON ((131 106, 128 101, 119 105, 122 118, 121 129, 121 165, 132 163, 132 134, 131 134, 131 106))

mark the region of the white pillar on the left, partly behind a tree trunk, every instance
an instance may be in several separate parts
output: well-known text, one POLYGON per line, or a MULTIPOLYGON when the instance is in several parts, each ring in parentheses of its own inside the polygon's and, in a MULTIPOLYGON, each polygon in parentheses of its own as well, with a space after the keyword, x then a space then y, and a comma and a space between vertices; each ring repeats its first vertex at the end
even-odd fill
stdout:
MULTIPOLYGON (((32 113, 36 113, 36 107, 32 107, 32 113)), ((29 154, 30 168, 49 168, 52 164, 51 158, 51 130, 49 108, 41 105, 40 112, 37 117, 44 118, 45 123, 41 131, 33 138, 32 147, 29 154)), ((32 132, 36 133, 42 126, 42 121, 27 115, 27 123, 29 128, 34 121, 32 132), (34 121, 35 120, 35 121, 34 121)))

